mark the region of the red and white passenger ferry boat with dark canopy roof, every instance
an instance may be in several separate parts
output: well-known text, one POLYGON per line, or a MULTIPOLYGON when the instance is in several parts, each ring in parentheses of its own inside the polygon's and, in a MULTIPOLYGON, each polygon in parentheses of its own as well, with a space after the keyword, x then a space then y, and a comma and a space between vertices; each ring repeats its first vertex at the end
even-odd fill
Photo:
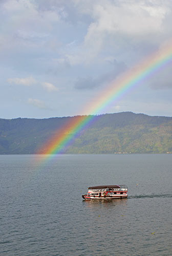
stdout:
POLYGON ((126 185, 105 185, 88 188, 87 195, 82 195, 84 200, 92 199, 117 199, 127 198, 128 188, 126 185))

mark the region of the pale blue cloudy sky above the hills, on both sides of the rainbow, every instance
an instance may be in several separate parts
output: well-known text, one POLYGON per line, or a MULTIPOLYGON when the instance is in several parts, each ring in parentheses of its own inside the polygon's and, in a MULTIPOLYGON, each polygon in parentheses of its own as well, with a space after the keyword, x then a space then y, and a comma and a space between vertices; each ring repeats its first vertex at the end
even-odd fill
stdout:
MULTIPOLYGON (((0 118, 85 115, 172 39, 170 0, 1 0, 0 118)), ((97 114, 172 116, 172 64, 97 114)))

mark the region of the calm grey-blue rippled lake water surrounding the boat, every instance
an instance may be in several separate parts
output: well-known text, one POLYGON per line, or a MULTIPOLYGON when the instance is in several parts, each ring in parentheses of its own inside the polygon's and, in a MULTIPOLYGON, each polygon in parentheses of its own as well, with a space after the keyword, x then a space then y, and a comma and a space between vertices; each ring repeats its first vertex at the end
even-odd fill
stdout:
POLYGON ((36 158, 0 156, 1 255, 172 255, 171 155, 36 158), (128 199, 82 200, 102 184, 128 199))

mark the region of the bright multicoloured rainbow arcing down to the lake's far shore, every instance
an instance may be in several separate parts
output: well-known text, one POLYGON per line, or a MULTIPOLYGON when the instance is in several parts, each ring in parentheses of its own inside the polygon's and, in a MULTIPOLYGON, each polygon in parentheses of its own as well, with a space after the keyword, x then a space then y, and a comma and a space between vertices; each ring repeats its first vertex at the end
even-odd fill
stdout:
POLYGON ((149 76, 154 75, 155 72, 166 67, 171 61, 172 47, 170 44, 148 56, 122 76, 119 76, 97 96, 94 103, 82 110, 82 113, 89 113, 89 115, 71 118, 71 120, 55 132, 55 135, 50 140, 39 148, 37 154, 43 153, 46 159, 50 159, 57 154, 63 153, 75 138, 79 136, 83 128, 89 125, 94 120, 95 115, 100 113, 102 109, 113 101, 119 100, 129 90, 138 86, 149 76))

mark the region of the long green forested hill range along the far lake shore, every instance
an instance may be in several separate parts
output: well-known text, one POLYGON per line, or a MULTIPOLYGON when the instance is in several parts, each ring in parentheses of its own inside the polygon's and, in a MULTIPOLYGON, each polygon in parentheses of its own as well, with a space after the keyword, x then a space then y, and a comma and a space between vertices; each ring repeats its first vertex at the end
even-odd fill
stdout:
MULTIPOLYGON (((34 154, 69 119, 0 119, 0 154, 34 154)), ((45 149, 42 149, 42 153, 45 149)), ((171 153, 172 117, 122 112, 95 116, 66 153, 171 153)))

